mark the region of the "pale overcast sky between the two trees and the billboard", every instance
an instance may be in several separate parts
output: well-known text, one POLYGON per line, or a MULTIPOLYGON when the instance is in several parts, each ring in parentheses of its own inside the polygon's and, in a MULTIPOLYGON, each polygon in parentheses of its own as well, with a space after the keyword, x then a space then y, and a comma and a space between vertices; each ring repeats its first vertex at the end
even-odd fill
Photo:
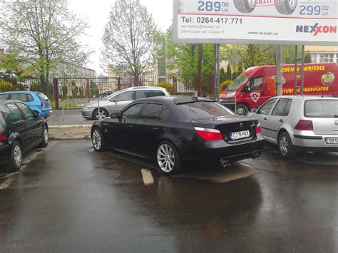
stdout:
MULTIPOLYGON (((100 48, 102 47, 101 38, 103 29, 108 21, 109 11, 115 0, 69 0, 71 10, 76 14, 84 16, 91 24, 91 28, 87 33, 90 38, 87 38, 87 44, 95 51, 90 58, 88 68, 93 68, 97 73, 102 73, 100 68, 100 48)), ((165 31, 168 29, 173 20, 173 0, 140 0, 141 4, 148 8, 150 14, 153 14, 155 24, 165 31)), ((106 71, 106 70, 105 70, 106 71)))

